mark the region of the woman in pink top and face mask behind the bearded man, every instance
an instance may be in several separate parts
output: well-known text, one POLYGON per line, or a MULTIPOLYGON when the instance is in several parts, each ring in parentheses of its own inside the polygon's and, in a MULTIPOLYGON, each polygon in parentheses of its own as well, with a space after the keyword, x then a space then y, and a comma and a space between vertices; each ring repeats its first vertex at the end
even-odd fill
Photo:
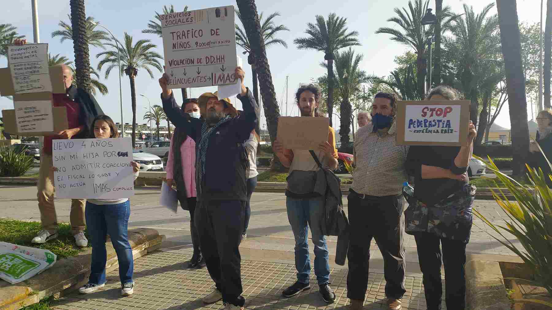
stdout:
MULTIPOLYGON (((198 100, 185 99, 182 104, 182 112, 190 117, 199 118, 200 111, 198 100)), ((167 160, 167 184, 177 189, 178 200, 182 209, 190 211, 190 230, 192 232, 192 244, 194 254, 188 264, 189 268, 205 267, 205 260, 199 247, 198 231, 194 225, 195 204, 197 203, 197 191, 195 189, 195 141, 178 128, 174 129, 167 160)))

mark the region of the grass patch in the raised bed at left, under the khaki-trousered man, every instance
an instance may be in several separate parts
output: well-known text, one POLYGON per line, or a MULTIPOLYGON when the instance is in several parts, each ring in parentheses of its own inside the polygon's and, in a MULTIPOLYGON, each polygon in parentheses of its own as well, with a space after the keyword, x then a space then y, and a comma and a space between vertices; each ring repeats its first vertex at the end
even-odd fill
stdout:
MULTIPOLYGON (((0 240, 19 244, 20 246, 47 249, 56 254, 57 259, 75 256, 86 249, 79 248, 75 245, 75 237, 71 234, 71 226, 68 224, 59 225, 59 236, 57 239, 44 244, 31 243, 31 240, 40 229, 40 222, 0 219, 0 240)), ((84 234, 87 235, 86 231, 84 234)))

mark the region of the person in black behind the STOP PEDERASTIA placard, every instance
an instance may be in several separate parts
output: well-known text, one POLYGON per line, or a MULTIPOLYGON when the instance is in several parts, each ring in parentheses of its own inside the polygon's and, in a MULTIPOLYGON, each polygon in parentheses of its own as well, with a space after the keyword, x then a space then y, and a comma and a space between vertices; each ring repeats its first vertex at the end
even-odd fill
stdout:
MULTIPOLYGON (((458 99, 458 91, 449 86, 437 86, 426 97, 426 100, 458 99)), ((445 267, 447 309, 465 309, 464 265, 475 196, 475 187, 469 184, 467 171, 476 134, 470 121, 466 146, 410 146, 408 150, 406 167, 408 174, 415 178, 415 199, 408 202, 406 229, 415 231, 427 310, 442 307, 441 259, 445 267), (432 211, 428 212, 428 208, 432 211), (439 214, 436 210, 443 211, 439 214), (433 224, 431 227, 429 222, 433 224)))

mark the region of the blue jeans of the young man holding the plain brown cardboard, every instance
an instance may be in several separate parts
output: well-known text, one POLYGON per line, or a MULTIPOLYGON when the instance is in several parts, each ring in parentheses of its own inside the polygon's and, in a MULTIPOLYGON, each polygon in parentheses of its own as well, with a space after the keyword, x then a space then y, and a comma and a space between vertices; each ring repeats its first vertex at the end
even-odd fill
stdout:
POLYGON ((314 243, 314 273, 318 284, 330 281, 330 264, 328 264, 328 246, 326 237, 322 235, 323 197, 291 198, 286 197, 288 220, 295 236, 295 268, 297 280, 309 283, 310 258, 307 243, 310 226, 312 243, 314 243))

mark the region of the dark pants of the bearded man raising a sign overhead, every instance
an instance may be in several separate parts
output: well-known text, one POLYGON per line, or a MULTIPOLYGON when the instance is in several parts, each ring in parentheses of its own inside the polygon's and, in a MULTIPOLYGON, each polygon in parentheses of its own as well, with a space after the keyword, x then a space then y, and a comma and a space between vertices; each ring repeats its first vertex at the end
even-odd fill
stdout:
POLYGON ((245 201, 211 200, 198 202, 195 227, 198 229, 201 253, 222 301, 243 306, 240 242, 243 231, 245 201))

